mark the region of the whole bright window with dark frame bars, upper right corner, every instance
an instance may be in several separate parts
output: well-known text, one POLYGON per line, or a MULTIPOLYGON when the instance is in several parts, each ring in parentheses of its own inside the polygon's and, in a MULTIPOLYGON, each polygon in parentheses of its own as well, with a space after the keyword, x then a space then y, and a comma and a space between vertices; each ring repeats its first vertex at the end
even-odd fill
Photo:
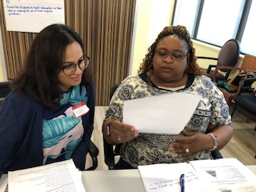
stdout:
POLYGON ((215 46, 236 38, 242 53, 256 55, 254 18, 252 0, 176 0, 172 25, 186 26, 192 38, 215 46))

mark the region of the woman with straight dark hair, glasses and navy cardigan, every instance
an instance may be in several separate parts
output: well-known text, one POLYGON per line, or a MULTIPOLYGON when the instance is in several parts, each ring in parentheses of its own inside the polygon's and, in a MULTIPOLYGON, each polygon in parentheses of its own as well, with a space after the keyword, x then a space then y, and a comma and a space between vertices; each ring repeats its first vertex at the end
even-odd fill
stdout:
POLYGON ((0 176, 72 158, 85 170, 94 83, 82 39, 62 24, 34 38, 0 110, 0 176))

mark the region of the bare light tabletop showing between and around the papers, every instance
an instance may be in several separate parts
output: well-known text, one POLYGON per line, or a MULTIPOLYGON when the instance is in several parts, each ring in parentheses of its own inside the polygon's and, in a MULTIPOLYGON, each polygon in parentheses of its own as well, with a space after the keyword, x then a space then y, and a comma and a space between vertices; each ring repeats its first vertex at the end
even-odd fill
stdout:
MULTIPOLYGON (((256 165, 247 166, 256 174, 256 165)), ((6 188, 7 174, 0 179, 0 192, 6 188)), ((82 171, 82 183, 86 192, 145 192, 138 170, 90 170, 82 171)))

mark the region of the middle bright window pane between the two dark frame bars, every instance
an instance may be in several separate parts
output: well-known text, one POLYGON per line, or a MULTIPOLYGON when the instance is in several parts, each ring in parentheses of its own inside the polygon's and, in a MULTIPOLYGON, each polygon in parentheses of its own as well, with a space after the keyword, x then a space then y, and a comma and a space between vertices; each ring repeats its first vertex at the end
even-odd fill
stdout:
POLYGON ((197 38, 214 45, 223 45, 230 38, 235 38, 234 31, 238 30, 242 16, 242 2, 238 0, 206 0, 202 9, 197 38), (232 5, 232 9, 230 9, 230 5, 232 5))

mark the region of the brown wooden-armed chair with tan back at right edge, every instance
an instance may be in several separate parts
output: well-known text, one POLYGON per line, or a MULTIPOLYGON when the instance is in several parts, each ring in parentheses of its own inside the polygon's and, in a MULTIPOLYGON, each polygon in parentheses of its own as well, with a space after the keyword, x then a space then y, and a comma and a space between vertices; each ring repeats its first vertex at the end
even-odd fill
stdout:
MULTIPOLYGON (((234 66, 217 66, 215 71, 214 71, 214 76, 213 76, 213 82, 216 83, 216 75, 218 73, 218 70, 222 70, 222 69, 228 69, 228 70, 234 70, 234 71, 246 71, 246 70, 256 70, 256 57, 246 54, 245 57, 242 60, 242 64, 240 67, 234 67, 234 66)), ((250 81, 255 81, 254 78, 246 78, 246 79, 250 79, 250 81)), ((247 81, 247 80, 246 80, 247 81)), ((249 80, 248 80, 249 81, 249 80)), ((239 94, 243 94, 243 93, 247 93, 247 94, 252 94, 253 90, 250 89, 243 89, 243 85, 241 84, 241 82, 239 83, 238 86, 238 90, 236 90, 235 92, 232 92, 230 90, 226 90, 226 88, 224 87, 220 87, 218 86, 218 88, 220 90, 222 90, 222 93, 224 94, 224 97, 226 98, 226 102, 230 105, 232 100, 234 98, 236 98, 239 94)))

